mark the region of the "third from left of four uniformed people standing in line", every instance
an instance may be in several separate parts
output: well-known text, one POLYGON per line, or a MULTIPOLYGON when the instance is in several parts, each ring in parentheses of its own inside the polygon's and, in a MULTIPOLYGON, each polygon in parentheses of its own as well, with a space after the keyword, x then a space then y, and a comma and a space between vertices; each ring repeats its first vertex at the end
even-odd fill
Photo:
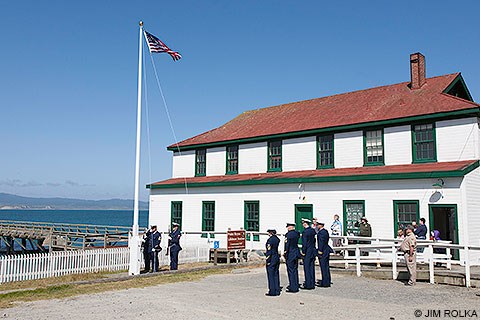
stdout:
POLYGON ((317 250, 315 248, 315 230, 310 226, 312 223, 309 219, 302 219, 302 256, 303 271, 305 273, 305 282, 300 289, 315 289, 315 258, 317 250))

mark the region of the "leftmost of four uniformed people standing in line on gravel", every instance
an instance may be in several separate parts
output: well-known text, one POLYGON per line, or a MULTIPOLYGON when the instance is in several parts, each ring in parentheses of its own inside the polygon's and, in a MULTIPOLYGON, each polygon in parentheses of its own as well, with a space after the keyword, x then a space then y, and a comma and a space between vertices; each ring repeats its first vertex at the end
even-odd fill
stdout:
POLYGON ((277 237, 277 231, 274 229, 268 229, 268 240, 265 244, 267 251, 265 255, 267 257, 267 279, 268 279, 268 292, 266 296, 279 296, 280 295, 280 255, 278 254, 278 245, 280 239, 277 237))

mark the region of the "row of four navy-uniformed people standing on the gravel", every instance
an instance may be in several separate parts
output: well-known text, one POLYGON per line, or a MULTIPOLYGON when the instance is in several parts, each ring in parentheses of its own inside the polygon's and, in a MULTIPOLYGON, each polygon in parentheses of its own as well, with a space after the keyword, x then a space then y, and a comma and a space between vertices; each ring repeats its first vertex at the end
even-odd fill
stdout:
MULTIPOLYGON (((295 293, 299 289, 312 290, 315 287, 330 287, 330 253, 333 253, 328 241, 330 236, 325 230, 323 222, 315 222, 302 219, 303 232, 295 230, 295 223, 287 223, 288 232, 285 234, 284 258, 287 266, 288 282, 286 292, 295 293), (298 247, 298 240, 302 237, 302 248, 298 247), (316 239, 315 239, 316 238, 316 239), (316 243, 316 245, 315 245, 316 243), (322 279, 315 281, 315 259, 318 257, 322 279), (298 278, 298 260, 303 259, 303 271, 305 282, 300 285, 298 278)), ((267 296, 280 295, 280 255, 278 246, 280 239, 274 229, 267 230, 269 238, 266 243, 266 268, 268 278, 267 296)))

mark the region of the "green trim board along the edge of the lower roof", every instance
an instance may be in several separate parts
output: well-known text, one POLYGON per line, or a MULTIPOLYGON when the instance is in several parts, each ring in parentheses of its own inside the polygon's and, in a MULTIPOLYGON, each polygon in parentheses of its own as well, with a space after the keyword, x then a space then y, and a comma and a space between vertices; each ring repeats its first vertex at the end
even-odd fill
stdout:
MULTIPOLYGON (((343 181, 375 181, 375 180, 403 180, 403 179, 430 179, 430 178, 450 178, 463 177, 479 167, 479 160, 475 161, 462 170, 451 171, 431 171, 431 172, 407 172, 407 173, 382 173, 382 174, 362 174, 350 176, 328 176, 328 177, 304 177, 304 178, 265 178, 243 181, 218 181, 218 182, 189 182, 189 188, 195 187, 224 187, 224 186, 245 186, 245 185, 268 185, 268 184, 289 184, 289 183, 323 183, 323 182, 343 182, 343 181)), ((172 183, 147 185, 148 189, 170 189, 185 188, 185 183, 172 183)))

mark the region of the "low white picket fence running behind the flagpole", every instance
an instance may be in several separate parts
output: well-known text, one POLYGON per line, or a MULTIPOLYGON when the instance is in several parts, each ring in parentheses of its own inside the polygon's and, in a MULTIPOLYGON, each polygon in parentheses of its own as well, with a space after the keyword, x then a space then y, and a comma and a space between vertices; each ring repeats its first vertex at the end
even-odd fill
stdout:
MULTIPOLYGON (((129 259, 127 247, 2 256, 0 283, 76 273, 127 270, 129 259)), ((206 246, 184 248, 179 254, 180 263, 206 262, 208 259, 209 248, 206 246)), ((169 257, 160 253, 159 262, 161 266, 169 265, 169 257)))

